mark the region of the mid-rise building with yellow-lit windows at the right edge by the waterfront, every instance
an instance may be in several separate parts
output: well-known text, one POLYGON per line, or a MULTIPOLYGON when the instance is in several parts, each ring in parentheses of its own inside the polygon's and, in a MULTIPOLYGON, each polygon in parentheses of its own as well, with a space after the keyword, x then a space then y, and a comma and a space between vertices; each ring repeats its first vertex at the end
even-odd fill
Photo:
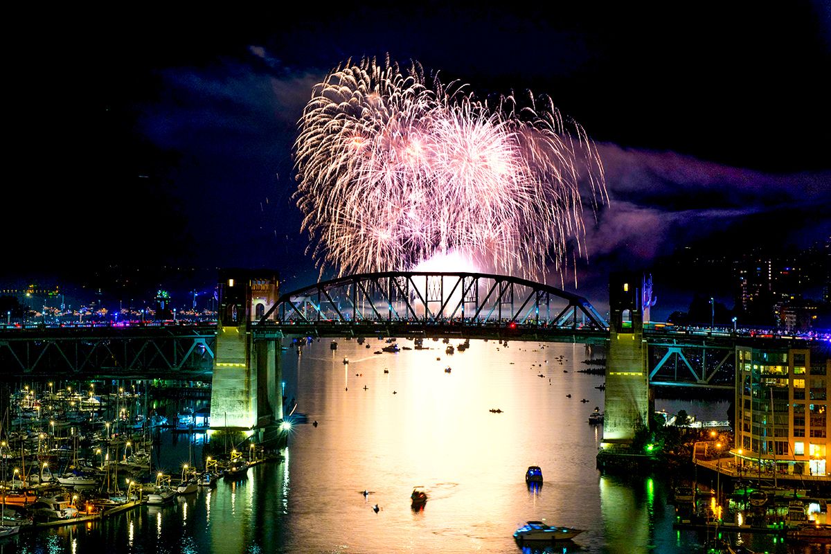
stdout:
POLYGON ((818 350, 737 346, 736 463, 751 471, 825 475, 829 374, 831 358, 818 350))

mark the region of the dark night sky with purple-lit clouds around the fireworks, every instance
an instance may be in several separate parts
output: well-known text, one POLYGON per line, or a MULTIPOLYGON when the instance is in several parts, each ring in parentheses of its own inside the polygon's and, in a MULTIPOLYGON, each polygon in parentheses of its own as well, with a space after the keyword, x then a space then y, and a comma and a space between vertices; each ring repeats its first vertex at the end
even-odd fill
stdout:
POLYGON ((7 51, 0 282, 168 265, 311 284, 297 120, 335 66, 387 53, 480 96, 547 94, 583 125, 611 199, 587 221, 590 300, 609 269, 684 247, 831 235, 829 2, 580 3, 54 14, 7 51))

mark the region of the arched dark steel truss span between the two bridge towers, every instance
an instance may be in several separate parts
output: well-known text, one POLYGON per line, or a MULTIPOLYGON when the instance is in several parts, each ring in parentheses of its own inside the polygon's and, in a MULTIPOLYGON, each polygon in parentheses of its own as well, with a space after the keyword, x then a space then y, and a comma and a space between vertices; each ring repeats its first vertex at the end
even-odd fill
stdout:
POLYGON ((583 297, 486 273, 379 272, 283 294, 258 333, 301 336, 514 336, 605 340, 607 323, 583 297))

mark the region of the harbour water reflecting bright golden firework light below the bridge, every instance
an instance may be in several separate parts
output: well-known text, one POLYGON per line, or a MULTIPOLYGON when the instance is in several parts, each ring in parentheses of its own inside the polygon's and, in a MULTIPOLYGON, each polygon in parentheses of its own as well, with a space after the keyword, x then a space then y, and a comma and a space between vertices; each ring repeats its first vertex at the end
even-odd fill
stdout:
MULTIPOLYGON (((441 341, 425 341, 429 350, 376 355, 386 346, 377 339, 366 341, 370 348, 338 340, 337 351, 330 342, 283 353, 286 395, 308 417, 293 429, 283 463, 169 506, 13 537, 0 554, 530 553, 512 537, 529 519, 586 530, 545 552, 703 552, 706 536, 672 529, 666 482, 597 472, 602 428, 587 419, 602 409, 595 387, 603 376, 577 372, 587 367, 583 346, 471 341, 448 355, 441 341), (524 482, 529 465, 543 469, 538 492, 524 482), (410 504, 416 485, 429 495, 418 512, 410 504)), ((725 419, 727 403, 657 400, 656 408, 725 419)), ((201 444, 189 445, 187 435, 163 435, 168 473, 177 474, 189 446, 201 459, 201 444)), ((758 552, 829 552, 740 538, 758 552)))

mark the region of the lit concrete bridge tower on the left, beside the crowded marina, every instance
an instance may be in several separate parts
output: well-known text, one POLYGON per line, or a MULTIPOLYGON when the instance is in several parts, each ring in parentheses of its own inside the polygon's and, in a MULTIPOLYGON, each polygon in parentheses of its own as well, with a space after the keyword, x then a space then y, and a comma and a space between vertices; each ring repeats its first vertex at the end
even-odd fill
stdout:
POLYGON ((254 341, 252 333, 278 296, 276 271, 219 273, 211 429, 262 430, 283 419, 279 339, 254 341))

